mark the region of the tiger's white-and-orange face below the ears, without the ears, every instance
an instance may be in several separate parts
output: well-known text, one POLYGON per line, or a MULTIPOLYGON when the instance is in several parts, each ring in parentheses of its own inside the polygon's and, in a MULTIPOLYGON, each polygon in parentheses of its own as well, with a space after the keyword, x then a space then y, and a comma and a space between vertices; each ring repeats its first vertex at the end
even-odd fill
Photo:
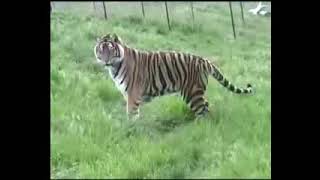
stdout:
POLYGON ((112 66, 121 60, 119 46, 111 40, 99 41, 94 47, 94 52, 98 63, 105 66, 112 66))

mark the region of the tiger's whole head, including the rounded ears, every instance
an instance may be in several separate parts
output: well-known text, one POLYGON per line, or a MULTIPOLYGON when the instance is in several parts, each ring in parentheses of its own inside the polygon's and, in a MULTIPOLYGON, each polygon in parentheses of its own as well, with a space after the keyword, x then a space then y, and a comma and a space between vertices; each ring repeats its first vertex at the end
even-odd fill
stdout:
POLYGON ((114 34, 114 37, 111 34, 107 34, 102 38, 98 38, 94 47, 97 62, 105 66, 112 66, 121 62, 124 56, 121 44, 122 41, 116 34, 114 34))

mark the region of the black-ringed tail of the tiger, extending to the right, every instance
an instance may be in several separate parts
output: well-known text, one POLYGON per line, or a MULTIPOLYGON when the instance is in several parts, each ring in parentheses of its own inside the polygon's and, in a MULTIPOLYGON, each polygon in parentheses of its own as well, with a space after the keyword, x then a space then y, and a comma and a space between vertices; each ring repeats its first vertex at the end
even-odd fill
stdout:
POLYGON ((225 78, 221 71, 213 64, 209 63, 209 70, 211 70, 212 76, 218 80, 218 82, 225 88, 229 89, 233 93, 237 94, 251 94, 253 92, 251 84, 247 84, 246 88, 239 88, 233 85, 227 78, 225 78))

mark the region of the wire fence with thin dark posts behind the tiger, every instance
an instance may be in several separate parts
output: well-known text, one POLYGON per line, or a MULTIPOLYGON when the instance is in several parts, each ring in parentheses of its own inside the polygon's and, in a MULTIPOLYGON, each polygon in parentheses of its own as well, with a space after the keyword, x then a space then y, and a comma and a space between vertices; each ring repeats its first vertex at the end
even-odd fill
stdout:
MULTIPOLYGON (((174 23, 184 23, 195 28, 201 21, 203 24, 222 21, 216 14, 230 16, 230 29, 236 38, 236 26, 245 25, 248 9, 255 8, 258 2, 192 2, 192 1, 132 1, 132 2, 51 2, 51 11, 69 11, 79 14, 94 15, 108 19, 123 17, 141 17, 146 20, 166 23, 168 29, 174 23), (208 13, 211 13, 208 16, 208 13)), ((271 11, 271 3, 264 2, 271 11)))

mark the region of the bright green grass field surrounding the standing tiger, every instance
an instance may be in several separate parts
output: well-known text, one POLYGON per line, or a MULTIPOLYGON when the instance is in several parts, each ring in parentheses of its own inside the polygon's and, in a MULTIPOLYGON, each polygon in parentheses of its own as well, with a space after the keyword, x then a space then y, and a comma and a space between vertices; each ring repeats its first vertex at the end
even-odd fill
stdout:
POLYGON ((171 32, 165 20, 140 14, 51 15, 52 178, 271 178, 271 19, 245 14, 242 25, 235 12, 233 40, 227 4, 196 15, 194 30, 173 18, 171 32), (181 98, 165 96, 129 122, 122 96, 95 64, 96 37, 109 32, 138 49, 208 57, 255 94, 232 94, 210 78, 203 121, 193 121, 181 98))

